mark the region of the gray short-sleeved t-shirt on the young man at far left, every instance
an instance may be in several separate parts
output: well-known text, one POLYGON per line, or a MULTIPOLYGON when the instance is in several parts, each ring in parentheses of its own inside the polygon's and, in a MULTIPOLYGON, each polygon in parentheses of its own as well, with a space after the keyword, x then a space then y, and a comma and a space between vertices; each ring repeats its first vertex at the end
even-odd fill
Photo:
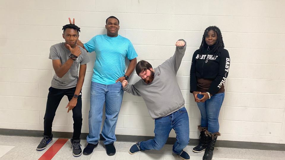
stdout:
MULTIPOLYGON (((80 47, 80 50, 81 54, 76 59, 76 63, 74 62, 72 64, 72 66, 62 78, 59 78, 56 74, 54 74, 53 79, 51 80, 51 87, 57 89, 68 89, 76 87, 79 64, 84 65, 90 61, 85 49, 80 47)), ((71 52, 69 49, 65 48, 64 42, 61 42, 50 47, 50 55, 48 58, 52 60, 60 60, 61 64, 64 64, 69 59, 70 54, 71 52)))

